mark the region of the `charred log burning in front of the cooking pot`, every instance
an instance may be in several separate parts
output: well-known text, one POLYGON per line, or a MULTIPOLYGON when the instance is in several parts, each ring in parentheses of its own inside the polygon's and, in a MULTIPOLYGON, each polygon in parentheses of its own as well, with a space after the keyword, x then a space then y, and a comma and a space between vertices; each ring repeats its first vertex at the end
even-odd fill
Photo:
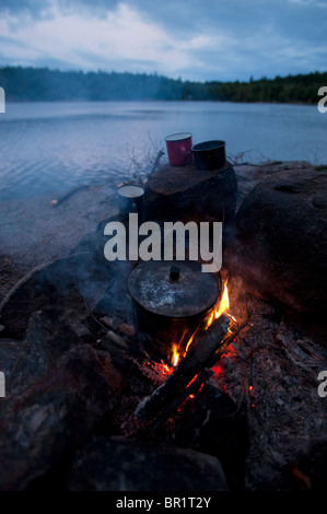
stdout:
MULTIPOLYGON (((218 360, 218 350, 221 347, 224 336, 227 332, 230 319, 222 315, 218 323, 213 323, 205 332, 197 337, 197 340, 190 346, 185 358, 180 361, 178 367, 170 375, 167 381, 162 384, 155 392, 144 398, 136 410, 136 417, 140 421, 152 421, 163 411, 171 409, 168 406, 173 404, 173 408, 178 405, 191 393, 190 382, 197 375, 210 369, 218 360), (187 395, 185 395, 187 393, 187 395), (176 398, 179 397, 176 405, 176 398)), ((208 374, 203 374, 205 382, 208 374)), ((196 378, 197 379, 197 378, 196 378)), ((202 383, 201 382, 201 383, 202 383)), ((198 384, 200 387, 201 384, 198 384)))

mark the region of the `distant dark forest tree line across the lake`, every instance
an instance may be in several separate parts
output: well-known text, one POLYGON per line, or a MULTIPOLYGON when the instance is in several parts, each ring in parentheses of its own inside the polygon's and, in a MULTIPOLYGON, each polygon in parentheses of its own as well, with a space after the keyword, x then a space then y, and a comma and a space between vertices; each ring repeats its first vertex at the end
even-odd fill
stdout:
POLYGON ((229 102, 317 103, 327 72, 248 82, 192 82, 156 73, 59 71, 48 68, 0 68, 7 101, 211 100, 229 102))

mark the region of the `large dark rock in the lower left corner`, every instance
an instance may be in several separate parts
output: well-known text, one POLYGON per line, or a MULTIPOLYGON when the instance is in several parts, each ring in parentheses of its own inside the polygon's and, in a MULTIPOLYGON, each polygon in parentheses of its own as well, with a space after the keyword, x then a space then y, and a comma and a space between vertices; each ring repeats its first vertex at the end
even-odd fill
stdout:
POLYGON ((24 490, 71 454, 113 408, 95 350, 56 316, 32 316, 1 398, 0 490, 24 490))

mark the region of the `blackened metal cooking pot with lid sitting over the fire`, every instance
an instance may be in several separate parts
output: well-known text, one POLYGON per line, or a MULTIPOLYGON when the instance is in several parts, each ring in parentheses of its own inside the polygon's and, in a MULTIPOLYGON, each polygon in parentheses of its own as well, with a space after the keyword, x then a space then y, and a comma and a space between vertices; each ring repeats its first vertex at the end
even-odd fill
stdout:
POLYGON ((166 358, 173 343, 185 350, 218 301, 221 283, 213 273, 201 272, 197 261, 150 260, 133 269, 128 289, 145 351, 166 358))

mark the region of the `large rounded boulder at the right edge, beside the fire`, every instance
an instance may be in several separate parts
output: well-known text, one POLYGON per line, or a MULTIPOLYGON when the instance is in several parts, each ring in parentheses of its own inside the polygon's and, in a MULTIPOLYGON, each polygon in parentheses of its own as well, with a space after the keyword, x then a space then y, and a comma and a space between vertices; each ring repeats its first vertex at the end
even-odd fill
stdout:
POLYGON ((229 265, 264 297, 296 313, 324 315, 327 276, 327 174, 277 173, 237 212, 229 265))

